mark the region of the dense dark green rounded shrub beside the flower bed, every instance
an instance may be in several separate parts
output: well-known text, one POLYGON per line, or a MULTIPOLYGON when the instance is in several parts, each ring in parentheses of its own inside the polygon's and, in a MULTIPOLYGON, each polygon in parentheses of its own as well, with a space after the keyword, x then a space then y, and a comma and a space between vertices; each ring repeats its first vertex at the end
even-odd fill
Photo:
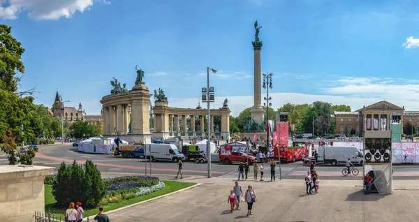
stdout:
POLYGON ((59 206, 81 201, 85 207, 94 208, 105 195, 105 183, 101 179, 101 172, 90 160, 86 161, 84 169, 76 161, 73 165, 61 163, 56 179, 49 177, 44 183, 51 181, 52 194, 59 206))

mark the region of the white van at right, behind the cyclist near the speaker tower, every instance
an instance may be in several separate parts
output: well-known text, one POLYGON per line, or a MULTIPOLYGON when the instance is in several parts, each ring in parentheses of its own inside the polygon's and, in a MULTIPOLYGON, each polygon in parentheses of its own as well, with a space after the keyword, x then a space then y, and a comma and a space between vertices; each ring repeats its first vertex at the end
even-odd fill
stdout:
POLYGON ((319 146, 317 159, 319 162, 324 161, 332 165, 345 164, 348 159, 354 165, 364 164, 364 156, 356 147, 319 146))

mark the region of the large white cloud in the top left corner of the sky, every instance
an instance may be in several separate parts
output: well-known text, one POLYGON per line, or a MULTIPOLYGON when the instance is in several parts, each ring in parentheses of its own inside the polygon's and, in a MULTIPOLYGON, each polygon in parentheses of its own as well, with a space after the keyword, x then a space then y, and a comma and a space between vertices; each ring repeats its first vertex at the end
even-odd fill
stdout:
POLYGON ((17 13, 27 11, 34 20, 58 20, 78 11, 83 13, 96 2, 110 4, 108 0, 0 0, 0 17, 14 20, 17 13))

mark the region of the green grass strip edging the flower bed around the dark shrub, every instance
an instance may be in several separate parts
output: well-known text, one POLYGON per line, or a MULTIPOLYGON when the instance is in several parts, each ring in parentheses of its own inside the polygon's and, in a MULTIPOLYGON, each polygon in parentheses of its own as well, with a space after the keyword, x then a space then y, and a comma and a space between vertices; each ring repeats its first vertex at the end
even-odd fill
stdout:
MULTIPOLYGON (((146 195, 141 195, 139 197, 130 199, 130 200, 122 200, 121 202, 110 203, 105 205, 105 212, 108 212, 112 209, 118 209, 120 207, 125 207, 128 205, 132 205, 136 202, 141 202, 144 200, 149 200, 151 198, 155 198, 159 195, 165 195, 166 193, 172 193, 174 191, 179 191, 182 188, 186 188, 189 186, 194 185, 195 183, 184 183, 184 182, 172 182, 172 181, 163 181, 166 186, 161 189, 160 191, 156 191, 154 193, 149 193, 146 195)), ((54 208, 55 204, 54 195, 52 195, 52 186, 45 185, 45 212, 48 212, 48 209, 51 209, 51 214, 54 216, 61 216, 64 217, 64 212, 66 209, 57 209, 54 208)), ((98 213, 97 207, 95 209, 84 209, 84 217, 92 216, 98 213)))

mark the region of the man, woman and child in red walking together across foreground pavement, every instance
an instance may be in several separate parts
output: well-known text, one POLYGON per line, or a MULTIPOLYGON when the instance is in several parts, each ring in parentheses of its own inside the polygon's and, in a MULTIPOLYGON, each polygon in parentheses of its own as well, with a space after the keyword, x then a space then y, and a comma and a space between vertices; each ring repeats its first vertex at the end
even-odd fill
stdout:
POLYGON ((239 209, 240 201, 244 201, 247 203, 247 216, 253 215, 251 209, 253 208, 253 203, 257 200, 256 192, 251 185, 248 185, 246 192, 243 193, 242 186, 239 182, 235 182, 235 186, 233 186, 233 190, 230 191, 227 199, 227 202, 230 204, 230 214, 233 214, 234 210, 239 209))

